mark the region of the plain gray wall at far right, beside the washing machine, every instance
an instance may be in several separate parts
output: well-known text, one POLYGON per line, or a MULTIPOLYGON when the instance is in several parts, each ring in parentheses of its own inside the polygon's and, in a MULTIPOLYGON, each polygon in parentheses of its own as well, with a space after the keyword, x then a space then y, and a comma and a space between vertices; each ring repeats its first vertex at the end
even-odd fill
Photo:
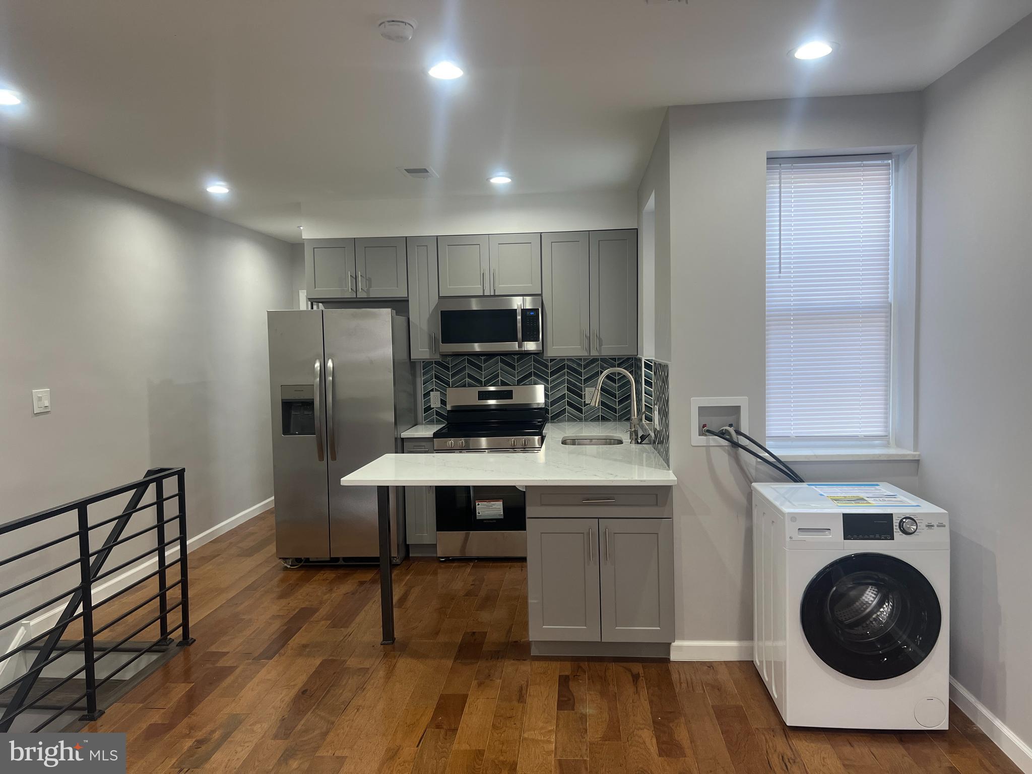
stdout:
POLYGON ((953 518, 952 673, 1032 743, 1032 17, 925 109, 921 490, 953 518))

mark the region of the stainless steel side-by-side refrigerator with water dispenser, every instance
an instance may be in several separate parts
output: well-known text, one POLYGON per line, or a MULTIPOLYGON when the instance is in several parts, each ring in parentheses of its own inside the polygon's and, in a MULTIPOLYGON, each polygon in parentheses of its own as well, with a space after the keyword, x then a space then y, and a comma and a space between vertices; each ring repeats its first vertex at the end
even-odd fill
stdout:
MULTIPOLYGON (((299 559, 380 555, 375 487, 341 478, 401 451, 416 420, 409 321, 389 309, 268 313, 276 548, 299 559)), ((404 498, 391 490, 391 553, 405 552, 404 498)))

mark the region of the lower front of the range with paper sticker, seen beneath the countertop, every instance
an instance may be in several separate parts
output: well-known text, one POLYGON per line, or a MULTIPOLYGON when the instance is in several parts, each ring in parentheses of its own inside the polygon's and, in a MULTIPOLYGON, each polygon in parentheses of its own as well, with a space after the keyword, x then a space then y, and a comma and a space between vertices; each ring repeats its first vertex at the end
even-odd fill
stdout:
POLYGON ((526 496, 515 486, 436 487, 438 556, 526 556, 526 496))

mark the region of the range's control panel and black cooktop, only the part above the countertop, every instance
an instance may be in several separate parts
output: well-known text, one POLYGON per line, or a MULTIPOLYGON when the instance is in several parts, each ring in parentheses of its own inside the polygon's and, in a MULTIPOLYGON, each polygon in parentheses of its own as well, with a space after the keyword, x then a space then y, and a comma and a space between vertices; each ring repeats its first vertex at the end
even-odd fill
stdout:
POLYGON ((436 452, 541 451, 545 387, 449 387, 448 424, 433 433, 436 452))

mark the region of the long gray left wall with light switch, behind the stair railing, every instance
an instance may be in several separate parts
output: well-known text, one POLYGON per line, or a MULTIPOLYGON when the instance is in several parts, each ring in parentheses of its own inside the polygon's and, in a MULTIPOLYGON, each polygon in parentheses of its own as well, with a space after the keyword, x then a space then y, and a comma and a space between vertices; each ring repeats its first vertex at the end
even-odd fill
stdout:
POLYGON ((191 535, 271 496, 286 243, 3 147, 0 233, 0 521, 151 465, 186 466, 191 535))

